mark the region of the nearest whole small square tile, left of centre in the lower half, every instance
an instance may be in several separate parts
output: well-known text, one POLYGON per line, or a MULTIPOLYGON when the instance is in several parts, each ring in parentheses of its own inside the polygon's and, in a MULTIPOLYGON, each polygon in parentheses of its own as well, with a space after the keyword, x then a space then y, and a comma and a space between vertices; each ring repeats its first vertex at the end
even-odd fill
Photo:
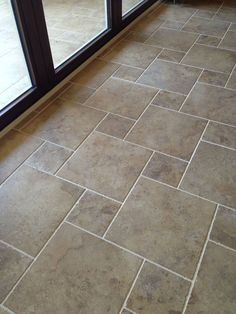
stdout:
POLYGON ((67 220, 102 236, 120 205, 118 202, 87 191, 74 207, 67 220))

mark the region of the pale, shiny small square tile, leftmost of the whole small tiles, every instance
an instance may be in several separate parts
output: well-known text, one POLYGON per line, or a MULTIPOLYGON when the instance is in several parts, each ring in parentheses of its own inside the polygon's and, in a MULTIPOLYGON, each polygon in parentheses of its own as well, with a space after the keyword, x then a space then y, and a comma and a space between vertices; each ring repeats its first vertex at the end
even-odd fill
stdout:
POLYGON ((26 164, 54 174, 71 156, 72 152, 55 144, 45 143, 27 159, 26 164))

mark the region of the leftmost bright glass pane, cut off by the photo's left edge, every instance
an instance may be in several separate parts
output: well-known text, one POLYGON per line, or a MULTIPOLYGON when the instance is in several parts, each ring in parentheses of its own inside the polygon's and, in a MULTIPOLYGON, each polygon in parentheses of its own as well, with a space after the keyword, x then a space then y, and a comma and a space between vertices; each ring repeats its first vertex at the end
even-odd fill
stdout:
POLYGON ((32 86, 9 0, 0 0, 0 71, 1 110, 32 86))

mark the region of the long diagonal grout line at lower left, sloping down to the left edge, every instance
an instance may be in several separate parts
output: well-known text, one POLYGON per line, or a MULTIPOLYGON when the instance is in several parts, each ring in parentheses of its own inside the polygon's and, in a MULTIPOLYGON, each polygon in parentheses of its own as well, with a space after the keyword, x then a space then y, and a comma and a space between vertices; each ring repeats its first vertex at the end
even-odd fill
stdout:
POLYGON ((51 236, 49 237, 49 239, 45 242, 45 244, 42 246, 41 250, 38 252, 38 254, 35 256, 34 260, 32 261, 32 263, 29 265, 29 267, 23 272, 23 274, 20 276, 20 278, 16 281, 16 283, 14 284, 14 286, 12 287, 12 289, 9 291, 9 293, 7 294, 7 296, 4 298, 4 300, 2 301, 2 304, 4 304, 8 298, 11 296, 11 294, 14 292, 14 290, 16 289, 16 287, 18 286, 18 284, 21 282, 21 280, 25 277, 25 275, 30 271, 30 269, 32 268, 32 266, 35 264, 35 262, 38 260, 39 256, 41 255, 41 253, 44 251, 44 249, 46 248, 46 246, 48 245, 48 243, 52 240, 52 238, 54 237, 54 235, 57 233, 57 231, 61 228, 61 226, 63 225, 63 223, 66 221, 66 219, 68 218, 68 216, 70 215, 70 213, 73 211, 74 207, 76 206, 76 204, 79 202, 79 200, 83 197, 83 195, 85 194, 86 190, 84 190, 81 195, 79 196, 79 198, 77 199, 77 201, 72 205, 71 209, 67 212, 67 214, 65 215, 65 217, 62 219, 62 221, 59 223, 59 225, 57 226, 57 228, 54 230, 54 232, 51 234, 51 236))

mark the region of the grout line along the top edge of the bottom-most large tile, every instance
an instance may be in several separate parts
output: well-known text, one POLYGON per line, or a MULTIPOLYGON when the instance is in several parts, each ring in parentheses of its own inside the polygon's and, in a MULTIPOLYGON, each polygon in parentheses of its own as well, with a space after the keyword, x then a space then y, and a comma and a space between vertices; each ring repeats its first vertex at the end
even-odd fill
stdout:
POLYGON ((182 279, 184 279, 184 280, 186 280, 188 282, 192 282, 191 279, 189 279, 189 278, 187 278, 187 277, 185 277, 185 276, 183 276, 183 275, 181 275, 181 274, 179 274, 179 273, 177 273, 177 272, 175 272, 175 271, 173 271, 173 270, 171 270, 171 269, 169 269, 169 268, 167 268, 167 267, 165 267, 165 266, 163 266, 163 265, 161 265, 159 263, 156 263, 156 262, 154 262, 152 260, 149 260, 146 257, 144 257, 144 256, 142 256, 142 255, 140 255, 138 253, 135 253, 135 252, 133 252, 133 251, 131 251, 131 250, 129 250, 129 249, 127 249, 127 248, 125 248, 125 247, 123 247, 123 246, 121 246, 121 245, 119 245, 119 244, 117 244, 117 243, 107 239, 107 238, 101 237, 101 236, 99 236, 99 235, 97 235, 97 234, 95 234, 95 233, 93 233, 91 231, 88 231, 88 230, 86 230, 86 229, 84 229, 84 228, 82 228, 80 226, 77 226, 77 225, 75 225, 75 224, 73 224, 73 223, 71 223, 71 222, 69 222, 67 220, 65 221, 65 223, 67 223, 67 224, 69 224, 69 225, 73 226, 74 228, 77 228, 77 229, 79 229, 81 231, 84 231, 84 232, 90 234, 91 236, 94 236, 94 237, 96 237, 96 238, 98 238, 100 240, 103 240, 103 241, 105 241, 105 242, 107 242, 107 243, 109 243, 111 245, 114 245, 115 247, 117 247, 117 248, 119 248, 119 249, 121 249, 121 250, 123 250, 125 252, 128 252, 128 253, 130 253, 130 254, 140 258, 141 260, 145 260, 146 262, 148 262, 148 263, 150 263, 152 265, 155 265, 155 266, 157 266, 157 267, 159 267, 159 268, 161 268, 161 269, 163 269, 165 271, 168 271, 169 273, 171 273, 171 274, 173 274, 173 275, 175 275, 177 277, 180 277, 180 278, 182 278, 182 279))

